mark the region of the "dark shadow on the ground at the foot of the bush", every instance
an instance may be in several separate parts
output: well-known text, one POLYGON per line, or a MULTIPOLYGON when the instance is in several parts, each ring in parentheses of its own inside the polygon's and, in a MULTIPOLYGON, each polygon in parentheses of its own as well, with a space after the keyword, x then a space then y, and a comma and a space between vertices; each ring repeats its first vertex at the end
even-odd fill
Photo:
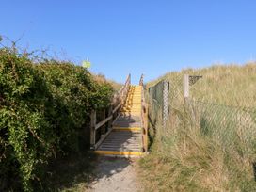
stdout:
POLYGON ((38 191, 85 191, 92 183, 111 177, 129 165, 129 159, 92 152, 58 159, 49 165, 48 176, 38 191))

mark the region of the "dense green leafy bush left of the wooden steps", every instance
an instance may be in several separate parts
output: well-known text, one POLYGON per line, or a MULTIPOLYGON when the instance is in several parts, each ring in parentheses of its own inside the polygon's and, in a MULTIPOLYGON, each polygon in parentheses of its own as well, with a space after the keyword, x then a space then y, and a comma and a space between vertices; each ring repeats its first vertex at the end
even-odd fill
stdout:
MULTIPOLYGON (((113 94, 70 62, 41 60, 0 49, 0 191, 33 191, 51 159, 78 152, 91 109, 113 94)), ((86 137, 85 137, 86 139, 86 137)))

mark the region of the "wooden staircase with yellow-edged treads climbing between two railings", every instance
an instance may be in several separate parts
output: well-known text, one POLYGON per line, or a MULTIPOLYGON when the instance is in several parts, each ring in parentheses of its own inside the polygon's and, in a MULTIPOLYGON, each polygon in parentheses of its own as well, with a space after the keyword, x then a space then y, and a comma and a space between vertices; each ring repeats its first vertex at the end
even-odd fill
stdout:
MULTIPOLYGON (((143 153, 142 86, 129 86, 120 114, 95 150, 98 154, 140 156, 143 153)), ((145 150, 144 150, 145 151, 145 150)))

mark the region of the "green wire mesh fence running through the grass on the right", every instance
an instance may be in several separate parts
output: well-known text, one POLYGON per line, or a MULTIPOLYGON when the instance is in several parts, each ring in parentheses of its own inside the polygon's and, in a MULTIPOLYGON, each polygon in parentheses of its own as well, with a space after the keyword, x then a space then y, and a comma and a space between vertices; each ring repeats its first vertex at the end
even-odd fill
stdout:
MULTIPOLYGON (((187 79, 187 85, 191 87, 199 76, 196 80, 192 76, 187 79)), ((170 146, 178 146, 181 140, 193 140, 195 146, 203 140, 209 147, 206 153, 218 155, 217 158, 222 155, 223 169, 227 173, 223 173, 223 180, 228 177, 232 187, 228 187, 229 190, 256 191, 256 108, 209 104, 193 97, 184 98, 182 75, 169 79, 169 90, 165 95, 166 81, 149 88, 148 96, 149 116, 152 126, 157 126, 161 150, 170 155, 174 149, 170 146), (163 126, 163 117, 167 113, 163 110, 165 97, 168 98, 166 128, 163 126)))

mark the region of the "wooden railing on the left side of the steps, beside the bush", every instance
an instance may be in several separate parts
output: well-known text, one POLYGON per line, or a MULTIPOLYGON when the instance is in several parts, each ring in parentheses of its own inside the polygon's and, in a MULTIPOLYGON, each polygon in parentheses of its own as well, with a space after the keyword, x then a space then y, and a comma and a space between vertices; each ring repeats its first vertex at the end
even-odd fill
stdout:
POLYGON ((120 112, 120 107, 124 104, 129 87, 131 85, 131 74, 127 76, 125 84, 120 91, 113 96, 109 107, 101 111, 92 110, 90 114, 90 149, 97 149, 104 138, 109 135, 112 130, 112 122, 120 112))

